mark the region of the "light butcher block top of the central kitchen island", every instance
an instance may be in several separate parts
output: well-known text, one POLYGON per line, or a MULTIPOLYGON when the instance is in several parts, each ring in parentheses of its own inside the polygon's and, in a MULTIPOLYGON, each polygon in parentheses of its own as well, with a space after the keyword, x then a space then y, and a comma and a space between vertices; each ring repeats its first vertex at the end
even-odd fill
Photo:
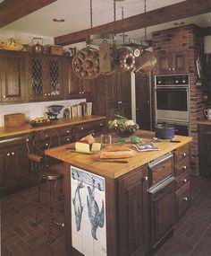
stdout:
MULTIPOLYGON (((139 130, 136 132, 135 135, 143 139, 152 140, 153 137, 155 136, 155 133, 150 131, 139 130)), ((156 159, 159 156, 162 156, 180 146, 190 143, 190 141, 192 140, 191 137, 175 136, 174 138, 181 142, 172 143, 167 140, 162 142, 155 142, 155 145, 160 148, 160 150, 158 151, 138 152, 133 146, 131 146, 131 148, 134 148, 134 150, 136 151, 136 155, 131 158, 123 159, 127 160, 128 163, 100 162, 96 156, 97 154, 81 154, 70 151, 68 148, 72 146, 72 144, 57 146, 55 148, 48 149, 46 150, 46 154, 53 156, 59 160, 62 160, 65 163, 70 163, 73 166, 77 166, 89 172, 96 173, 100 176, 116 179, 122 176, 123 174, 131 172, 132 170, 140 167, 145 163, 149 163, 150 161, 156 159)))

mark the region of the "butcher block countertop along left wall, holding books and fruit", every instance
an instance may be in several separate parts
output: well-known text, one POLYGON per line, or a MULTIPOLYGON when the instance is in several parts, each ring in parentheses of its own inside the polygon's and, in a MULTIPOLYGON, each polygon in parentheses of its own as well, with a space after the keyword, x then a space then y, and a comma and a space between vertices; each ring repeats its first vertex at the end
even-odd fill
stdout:
POLYGON ((4 128, 0 127, 0 139, 4 139, 6 137, 16 137, 24 134, 28 134, 33 131, 42 130, 45 128, 60 128, 65 126, 74 126, 81 123, 87 123, 97 120, 103 120, 105 117, 103 116, 89 116, 82 118, 73 118, 73 119, 58 119, 52 121, 50 125, 40 126, 40 127, 31 127, 30 124, 26 124, 20 127, 12 127, 12 128, 4 128))

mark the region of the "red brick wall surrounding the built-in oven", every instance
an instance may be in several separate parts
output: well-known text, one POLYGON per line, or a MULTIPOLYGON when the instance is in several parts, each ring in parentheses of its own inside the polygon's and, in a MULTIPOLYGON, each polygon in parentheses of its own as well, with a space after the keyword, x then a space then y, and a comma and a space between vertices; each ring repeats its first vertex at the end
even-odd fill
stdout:
MULTIPOLYGON (((198 78, 196 57, 203 59, 204 37, 196 25, 187 25, 165 31, 156 31, 152 35, 153 52, 155 54, 188 50, 188 65, 190 73, 190 136, 191 143, 191 173, 198 175, 198 120, 204 119, 203 110, 207 103, 203 100, 204 86, 196 86, 198 78)), ((155 68, 156 74, 156 68, 155 68)), ((155 111, 155 105, 154 105, 155 111)))

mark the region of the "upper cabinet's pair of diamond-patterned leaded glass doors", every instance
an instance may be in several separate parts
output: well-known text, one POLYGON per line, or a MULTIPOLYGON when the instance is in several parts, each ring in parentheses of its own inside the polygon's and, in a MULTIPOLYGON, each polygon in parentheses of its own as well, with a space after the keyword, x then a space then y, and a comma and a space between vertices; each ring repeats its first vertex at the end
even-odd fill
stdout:
POLYGON ((63 57, 31 54, 29 57, 30 101, 61 100, 63 57))

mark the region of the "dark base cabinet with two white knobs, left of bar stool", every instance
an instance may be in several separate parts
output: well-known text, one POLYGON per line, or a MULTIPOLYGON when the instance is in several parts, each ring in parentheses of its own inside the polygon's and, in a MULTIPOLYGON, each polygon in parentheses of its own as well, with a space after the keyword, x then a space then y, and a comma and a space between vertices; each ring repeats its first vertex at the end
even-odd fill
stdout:
POLYGON ((0 142, 0 195, 22 190, 35 182, 30 168, 26 137, 0 142))

